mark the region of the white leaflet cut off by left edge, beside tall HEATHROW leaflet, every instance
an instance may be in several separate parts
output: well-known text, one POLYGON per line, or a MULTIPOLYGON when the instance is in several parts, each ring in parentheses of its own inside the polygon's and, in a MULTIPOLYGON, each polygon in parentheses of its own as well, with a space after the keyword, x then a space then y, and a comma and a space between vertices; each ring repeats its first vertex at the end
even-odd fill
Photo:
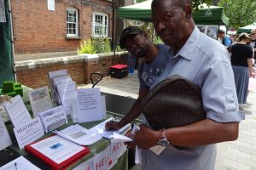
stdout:
POLYGON ((0 117, 0 150, 3 150, 4 148, 8 147, 10 144, 12 144, 12 141, 9 138, 9 133, 5 127, 4 122, 0 117))

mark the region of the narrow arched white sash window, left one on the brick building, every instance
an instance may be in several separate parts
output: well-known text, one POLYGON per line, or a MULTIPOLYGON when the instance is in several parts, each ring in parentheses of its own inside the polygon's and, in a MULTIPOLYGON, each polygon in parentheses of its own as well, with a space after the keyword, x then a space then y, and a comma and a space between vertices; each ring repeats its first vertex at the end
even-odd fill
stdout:
POLYGON ((67 37, 79 36, 79 22, 78 22, 78 9, 67 8, 67 37))

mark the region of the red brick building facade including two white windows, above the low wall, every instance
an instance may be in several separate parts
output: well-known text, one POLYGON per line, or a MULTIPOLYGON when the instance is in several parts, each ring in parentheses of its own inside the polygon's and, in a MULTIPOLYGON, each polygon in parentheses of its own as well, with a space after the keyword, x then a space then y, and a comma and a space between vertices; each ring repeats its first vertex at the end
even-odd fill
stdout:
POLYGON ((111 0, 11 0, 15 54, 75 51, 90 36, 112 37, 111 0))

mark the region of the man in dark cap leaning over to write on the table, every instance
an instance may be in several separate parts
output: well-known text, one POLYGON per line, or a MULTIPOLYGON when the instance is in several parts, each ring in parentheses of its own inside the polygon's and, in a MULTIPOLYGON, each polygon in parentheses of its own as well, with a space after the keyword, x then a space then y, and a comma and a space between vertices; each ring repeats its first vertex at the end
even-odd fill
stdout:
POLYGON ((159 77, 168 61, 169 47, 165 44, 154 44, 148 39, 147 34, 137 26, 129 26, 122 31, 119 40, 120 48, 126 48, 130 54, 137 58, 143 58, 138 66, 138 78, 140 82, 139 95, 125 117, 119 121, 106 123, 106 129, 119 129, 133 121, 141 114, 140 104, 148 94, 149 88, 159 77))

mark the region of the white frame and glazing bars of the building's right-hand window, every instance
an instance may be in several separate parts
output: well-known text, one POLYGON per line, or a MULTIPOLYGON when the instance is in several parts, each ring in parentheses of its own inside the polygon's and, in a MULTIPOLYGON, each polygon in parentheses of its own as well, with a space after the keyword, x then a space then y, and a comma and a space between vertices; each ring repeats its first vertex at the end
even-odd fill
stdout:
POLYGON ((101 12, 93 12, 92 13, 92 36, 94 37, 108 37, 108 14, 101 12), (102 16, 102 25, 100 23, 96 23, 96 15, 102 16), (104 32, 100 35, 96 33, 96 26, 102 26, 104 32))

